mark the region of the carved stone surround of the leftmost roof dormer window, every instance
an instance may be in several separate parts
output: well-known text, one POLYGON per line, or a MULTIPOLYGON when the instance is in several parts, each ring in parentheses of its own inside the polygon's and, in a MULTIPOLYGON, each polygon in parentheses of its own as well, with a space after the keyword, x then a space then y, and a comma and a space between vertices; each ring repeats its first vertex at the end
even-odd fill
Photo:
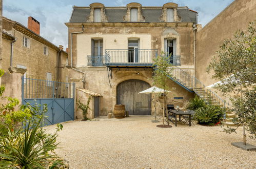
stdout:
POLYGON ((86 22, 87 23, 93 23, 94 22, 94 9, 101 9, 101 22, 108 22, 108 18, 105 14, 105 6, 101 3, 92 3, 90 4, 91 12, 90 15, 87 17, 86 22))

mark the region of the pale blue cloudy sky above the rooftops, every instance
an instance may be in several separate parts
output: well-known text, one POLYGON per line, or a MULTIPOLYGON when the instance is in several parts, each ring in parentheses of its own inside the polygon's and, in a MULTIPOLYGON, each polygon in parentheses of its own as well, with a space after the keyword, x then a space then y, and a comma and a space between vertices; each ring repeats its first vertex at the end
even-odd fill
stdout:
POLYGON ((205 26, 234 0, 3 0, 3 16, 27 26, 29 16, 40 22, 40 35, 54 45, 68 47, 68 28, 64 23, 69 21, 73 6, 89 6, 99 2, 107 7, 126 6, 137 2, 142 6, 163 6, 165 3, 176 3, 179 6, 198 12, 199 24, 205 26))

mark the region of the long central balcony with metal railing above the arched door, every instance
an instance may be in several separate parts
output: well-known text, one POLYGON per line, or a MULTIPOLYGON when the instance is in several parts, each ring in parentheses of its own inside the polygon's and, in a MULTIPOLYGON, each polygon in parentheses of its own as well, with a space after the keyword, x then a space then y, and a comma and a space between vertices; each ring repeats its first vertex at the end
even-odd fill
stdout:
POLYGON ((156 49, 106 49, 106 66, 152 66, 156 49))

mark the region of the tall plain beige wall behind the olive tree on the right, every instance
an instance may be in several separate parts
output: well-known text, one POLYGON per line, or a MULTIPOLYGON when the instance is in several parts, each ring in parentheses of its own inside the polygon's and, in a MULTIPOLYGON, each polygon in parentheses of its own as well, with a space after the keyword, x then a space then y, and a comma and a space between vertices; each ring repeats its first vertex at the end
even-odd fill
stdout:
POLYGON ((216 81, 206 73, 206 67, 224 39, 232 38, 238 29, 246 30, 256 19, 256 1, 235 0, 202 28, 196 37, 196 77, 206 86, 216 81))

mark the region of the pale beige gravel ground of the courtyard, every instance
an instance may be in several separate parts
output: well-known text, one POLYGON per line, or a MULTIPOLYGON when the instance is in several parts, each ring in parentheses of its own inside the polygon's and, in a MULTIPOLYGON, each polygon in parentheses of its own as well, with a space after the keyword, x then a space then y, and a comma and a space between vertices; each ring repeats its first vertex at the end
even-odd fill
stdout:
MULTIPOLYGON (((231 145, 242 141, 219 126, 179 124, 157 128, 152 117, 63 123, 56 153, 70 168, 255 168, 256 151, 231 145)), ((55 125, 48 126, 52 132, 55 125)), ((247 137, 248 143, 256 141, 247 137)))

